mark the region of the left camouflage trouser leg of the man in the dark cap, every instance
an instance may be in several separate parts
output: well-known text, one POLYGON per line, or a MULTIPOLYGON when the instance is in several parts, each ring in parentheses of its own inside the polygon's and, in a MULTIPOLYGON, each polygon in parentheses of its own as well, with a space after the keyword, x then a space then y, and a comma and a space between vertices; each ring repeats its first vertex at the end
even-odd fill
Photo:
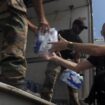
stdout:
POLYGON ((51 101, 53 96, 53 89, 57 80, 58 74, 61 71, 61 67, 52 61, 48 62, 45 81, 41 91, 41 97, 51 101))

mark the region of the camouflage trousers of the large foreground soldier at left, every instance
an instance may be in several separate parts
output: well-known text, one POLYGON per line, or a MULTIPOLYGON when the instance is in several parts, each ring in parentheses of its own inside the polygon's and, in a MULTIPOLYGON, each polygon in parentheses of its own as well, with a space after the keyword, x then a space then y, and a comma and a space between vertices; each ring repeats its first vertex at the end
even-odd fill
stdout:
POLYGON ((0 81, 19 87, 26 73, 27 21, 22 13, 0 12, 0 81))

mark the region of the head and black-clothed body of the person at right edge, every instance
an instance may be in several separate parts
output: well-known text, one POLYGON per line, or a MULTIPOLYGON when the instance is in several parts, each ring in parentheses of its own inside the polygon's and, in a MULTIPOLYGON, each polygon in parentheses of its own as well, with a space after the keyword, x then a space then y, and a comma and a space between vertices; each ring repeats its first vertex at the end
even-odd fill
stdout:
MULTIPOLYGON (((103 24, 101 35, 105 39, 104 27, 105 25, 103 24)), ((97 100, 98 105, 104 105, 105 94, 102 91, 105 91, 105 56, 90 56, 88 60, 96 66, 96 69, 91 90, 84 102, 91 105, 97 100)))

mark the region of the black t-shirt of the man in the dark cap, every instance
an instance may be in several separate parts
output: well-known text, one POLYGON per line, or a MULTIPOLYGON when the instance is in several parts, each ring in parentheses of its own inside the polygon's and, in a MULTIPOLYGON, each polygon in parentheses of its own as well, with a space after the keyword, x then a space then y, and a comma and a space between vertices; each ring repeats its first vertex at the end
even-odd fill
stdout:
MULTIPOLYGON (((63 38, 65 38, 68 41, 82 43, 82 40, 79 37, 79 35, 75 35, 71 30, 63 30, 59 31, 59 33, 63 38)), ((64 59, 73 59, 75 56, 75 51, 72 50, 63 50, 60 53, 64 59)))

